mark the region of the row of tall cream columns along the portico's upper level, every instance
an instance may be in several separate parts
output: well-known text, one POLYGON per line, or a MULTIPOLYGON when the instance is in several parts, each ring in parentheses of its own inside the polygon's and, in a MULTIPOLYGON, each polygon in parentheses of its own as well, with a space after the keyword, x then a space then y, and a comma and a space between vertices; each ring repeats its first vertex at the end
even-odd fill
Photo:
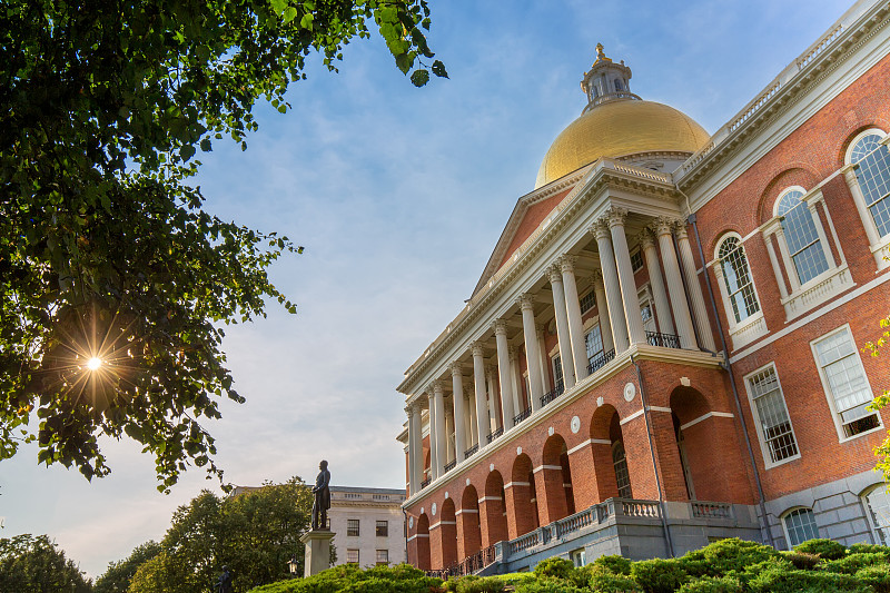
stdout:
MULTIPOLYGON (((594 273, 592 281, 603 352, 606 353, 614 349, 620 354, 632 345, 646 344, 651 338, 640 315, 625 231, 626 218, 627 210, 611 207, 590 228, 600 250, 601 269, 594 273)), ((713 335, 685 228, 674 219, 656 218, 643 229, 639 239, 649 268, 661 333, 679 335, 682 348, 699 349, 701 346, 713 352, 713 335)), ((565 391, 587 377, 591 363, 586 355, 575 263, 576 257, 562 255, 546 273, 553 293, 565 391)), ((405 411, 408 414, 408 482, 412 494, 419 492, 427 480, 443 476, 543 406, 542 397, 551 391, 550 365, 544 349, 544 332, 535 319, 534 303, 532 294, 516 297, 528 373, 527 405, 522 397, 520 354, 508 344, 505 318, 494 319, 491 324, 495 365, 486 364, 486 348, 492 349, 490 344, 477 338, 468 345, 472 389, 464 384, 468 369, 459 360, 454 360, 448 365, 452 375, 448 405, 442 379, 431 382, 423 394, 409 398, 405 411), (428 476, 424 474, 423 409, 428 409, 429 416, 428 476)))

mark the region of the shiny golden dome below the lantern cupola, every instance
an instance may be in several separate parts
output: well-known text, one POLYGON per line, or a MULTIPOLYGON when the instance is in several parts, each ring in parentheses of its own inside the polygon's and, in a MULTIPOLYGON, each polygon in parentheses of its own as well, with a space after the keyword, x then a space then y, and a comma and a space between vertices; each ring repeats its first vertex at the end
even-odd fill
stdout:
POLYGON ((602 102, 565 128, 537 171, 535 189, 600 157, 639 152, 695 152, 711 137, 692 118, 666 105, 633 99, 602 102))

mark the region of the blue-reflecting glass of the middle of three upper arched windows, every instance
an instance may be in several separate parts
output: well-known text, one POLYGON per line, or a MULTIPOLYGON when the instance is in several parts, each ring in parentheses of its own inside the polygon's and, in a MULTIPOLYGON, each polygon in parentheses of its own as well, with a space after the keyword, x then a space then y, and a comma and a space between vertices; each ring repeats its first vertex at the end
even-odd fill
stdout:
POLYGON ((807 284, 828 269, 824 246, 819 239, 813 214, 801 199, 803 195, 801 189, 791 188, 779 196, 775 204, 775 215, 783 217, 782 230, 800 284, 807 284))

